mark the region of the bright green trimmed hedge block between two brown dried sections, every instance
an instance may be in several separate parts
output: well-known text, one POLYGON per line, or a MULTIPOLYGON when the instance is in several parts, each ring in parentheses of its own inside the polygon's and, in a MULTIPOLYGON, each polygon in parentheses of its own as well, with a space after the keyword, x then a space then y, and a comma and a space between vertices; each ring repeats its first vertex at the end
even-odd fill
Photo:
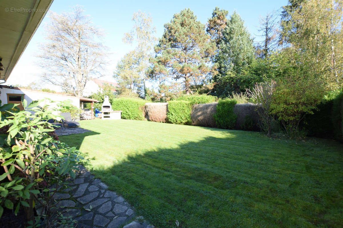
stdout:
POLYGON ((192 105, 185 100, 171 100, 168 102, 167 118, 170 123, 190 125, 192 105))

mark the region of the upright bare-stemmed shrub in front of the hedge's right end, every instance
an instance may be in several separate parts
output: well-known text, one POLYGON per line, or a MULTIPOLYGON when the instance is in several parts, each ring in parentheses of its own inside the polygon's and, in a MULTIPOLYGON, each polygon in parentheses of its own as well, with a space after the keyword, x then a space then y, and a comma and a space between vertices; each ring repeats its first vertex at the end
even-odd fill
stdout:
POLYGON ((255 103, 260 104, 261 108, 257 109, 258 115, 260 116, 261 128, 267 132, 268 137, 271 134, 271 125, 274 117, 270 114, 272 95, 275 91, 276 82, 256 83, 254 88, 250 90, 246 89, 247 94, 254 100, 255 103))

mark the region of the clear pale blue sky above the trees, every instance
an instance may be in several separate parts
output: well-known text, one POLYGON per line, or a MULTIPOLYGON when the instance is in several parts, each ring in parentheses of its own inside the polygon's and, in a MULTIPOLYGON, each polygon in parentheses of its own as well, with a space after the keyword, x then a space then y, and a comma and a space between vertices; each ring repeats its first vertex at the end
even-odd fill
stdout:
MULTIPOLYGON (((231 14, 236 10, 245 21, 245 26, 250 31, 252 37, 258 35, 257 27, 259 25, 259 16, 265 15, 273 10, 278 10, 281 6, 287 4, 287 0, 274 1, 76 1, 76 0, 54 0, 50 7, 50 11, 61 13, 63 11, 71 11, 74 5, 84 6, 85 14, 90 15, 93 23, 104 29, 106 37, 103 43, 110 48, 113 54, 110 56, 110 65, 107 69, 107 77, 105 80, 113 80, 112 75, 120 58, 134 47, 123 44, 122 37, 125 32, 131 30, 133 22, 131 21, 134 12, 141 10, 145 13, 150 13, 153 19, 153 24, 156 27, 156 37, 162 36, 164 24, 170 22, 175 13, 179 13, 182 9, 190 8, 197 19, 205 24, 215 6, 221 9, 226 9, 231 14)), ((7 84, 27 85, 30 82, 39 79, 38 74, 41 69, 34 64, 39 61, 36 59, 35 53, 38 53, 38 43, 44 42, 44 24, 49 21, 46 16, 42 24, 37 29, 32 40, 28 44, 26 50, 21 56, 19 62, 11 73, 7 84)), ((257 37, 256 40, 259 38, 257 37)), ((43 86, 52 88, 49 85, 43 86)), ((52 88, 58 90, 58 88, 52 88)))

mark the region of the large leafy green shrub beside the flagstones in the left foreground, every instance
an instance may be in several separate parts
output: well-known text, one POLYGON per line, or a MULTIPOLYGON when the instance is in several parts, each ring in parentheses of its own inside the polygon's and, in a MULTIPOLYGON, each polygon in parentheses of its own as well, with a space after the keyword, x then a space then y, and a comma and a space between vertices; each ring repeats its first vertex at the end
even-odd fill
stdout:
POLYGON ((0 163, 4 170, 0 175, 0 217, 3 206, 13 209, 14 214, 25 207, 29 227, 35 227, 40 216, 46 217, 47 224, 53 224, 49 213, 57 202, 52 196, 65 184, 67 176, 75 177, 73 171, 83 157, 75 147, 69 148, 48 134, 54 127, 47 120, 56 119, 52 113, 68 104, 51 102, 39 107, 43 100, 28 106, 26 100, 22 103, 23 111, 11 111, 17 104, 0 107, 0 128, 8 129, 0 135, 0 163), (44 205, 47 214, 35 217, 34 204, 38 203, 44 205))

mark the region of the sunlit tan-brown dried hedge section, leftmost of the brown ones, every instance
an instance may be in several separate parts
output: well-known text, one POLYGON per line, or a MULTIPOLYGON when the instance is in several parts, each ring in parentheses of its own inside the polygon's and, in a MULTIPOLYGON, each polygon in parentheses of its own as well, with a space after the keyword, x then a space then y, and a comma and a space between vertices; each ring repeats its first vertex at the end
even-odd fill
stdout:
POLYGON ((145 103, 145 118, 154 122, 167 122, 168 103, 145 103))

